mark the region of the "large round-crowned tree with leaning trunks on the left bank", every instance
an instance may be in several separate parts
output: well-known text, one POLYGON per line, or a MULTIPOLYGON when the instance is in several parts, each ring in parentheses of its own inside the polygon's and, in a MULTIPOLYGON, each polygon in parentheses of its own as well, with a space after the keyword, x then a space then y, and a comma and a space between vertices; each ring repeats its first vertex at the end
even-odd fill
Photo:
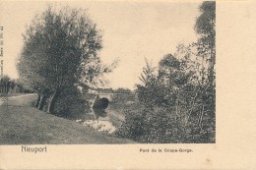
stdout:
POLYGON ((53 112, 64 89, 96 84, 110 72, 97 54, 101 47, 100 32, 85 10, 49 6, 35 16, 17 66, 22 82, 38 93, 35 106, 41 109, 49 97, 47 112, 53 112))

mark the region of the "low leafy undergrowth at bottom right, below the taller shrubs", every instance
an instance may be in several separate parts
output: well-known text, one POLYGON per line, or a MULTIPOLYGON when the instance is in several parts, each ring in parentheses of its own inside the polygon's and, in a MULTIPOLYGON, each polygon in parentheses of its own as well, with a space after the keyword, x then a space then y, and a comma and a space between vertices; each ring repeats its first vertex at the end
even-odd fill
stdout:
POLYGON ((196 122, 184 128, 181 119, 175 120, 173 114, 163 107, 126 113, 126 120, 116 135, 136 142, 150 143, 215 142, 215 123, 209 121, 212 124, 204 124, 202 130, 196 122))

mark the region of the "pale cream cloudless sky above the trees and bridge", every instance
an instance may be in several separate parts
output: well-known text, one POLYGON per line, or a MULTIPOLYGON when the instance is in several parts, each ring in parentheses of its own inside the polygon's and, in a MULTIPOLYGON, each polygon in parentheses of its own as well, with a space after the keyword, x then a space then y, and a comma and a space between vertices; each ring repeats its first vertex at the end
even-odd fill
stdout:
POLYGON ((147 58, 158 66, 163 55, 174 53, 179 43, 195 41, 196 18, 202 2, 177 1, 75 1, 0 2, 0 25, 4 27, 4 74, 18 78, 16 62, 23 46, 22 34, 35 14, 47 5, 87 9, 102 32, 100 57, 105 64, 118 59, 117 68, 105 78, 107 87, 133 89, 147 58))

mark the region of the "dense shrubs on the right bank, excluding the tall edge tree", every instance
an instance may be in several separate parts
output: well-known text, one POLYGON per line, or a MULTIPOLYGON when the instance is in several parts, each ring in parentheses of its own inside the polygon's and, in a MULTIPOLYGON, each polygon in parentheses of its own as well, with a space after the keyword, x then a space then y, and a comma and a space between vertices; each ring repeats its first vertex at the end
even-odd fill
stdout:
POLYGON ((128 112, 117 135, 137 142, 215 142, 215 85, 198 81, 189 69, 187 60, 172 55, 163 57, 158 73, 147 63, 144 85, 137 85, 145 109, 128 112))

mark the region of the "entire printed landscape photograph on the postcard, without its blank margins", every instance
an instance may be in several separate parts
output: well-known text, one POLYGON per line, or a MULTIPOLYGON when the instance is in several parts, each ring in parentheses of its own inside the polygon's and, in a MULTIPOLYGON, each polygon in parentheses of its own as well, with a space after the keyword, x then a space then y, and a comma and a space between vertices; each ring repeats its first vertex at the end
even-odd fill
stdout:
POLYGON ((1 145, 216 143, 215 1, 0 10, 1 145))

